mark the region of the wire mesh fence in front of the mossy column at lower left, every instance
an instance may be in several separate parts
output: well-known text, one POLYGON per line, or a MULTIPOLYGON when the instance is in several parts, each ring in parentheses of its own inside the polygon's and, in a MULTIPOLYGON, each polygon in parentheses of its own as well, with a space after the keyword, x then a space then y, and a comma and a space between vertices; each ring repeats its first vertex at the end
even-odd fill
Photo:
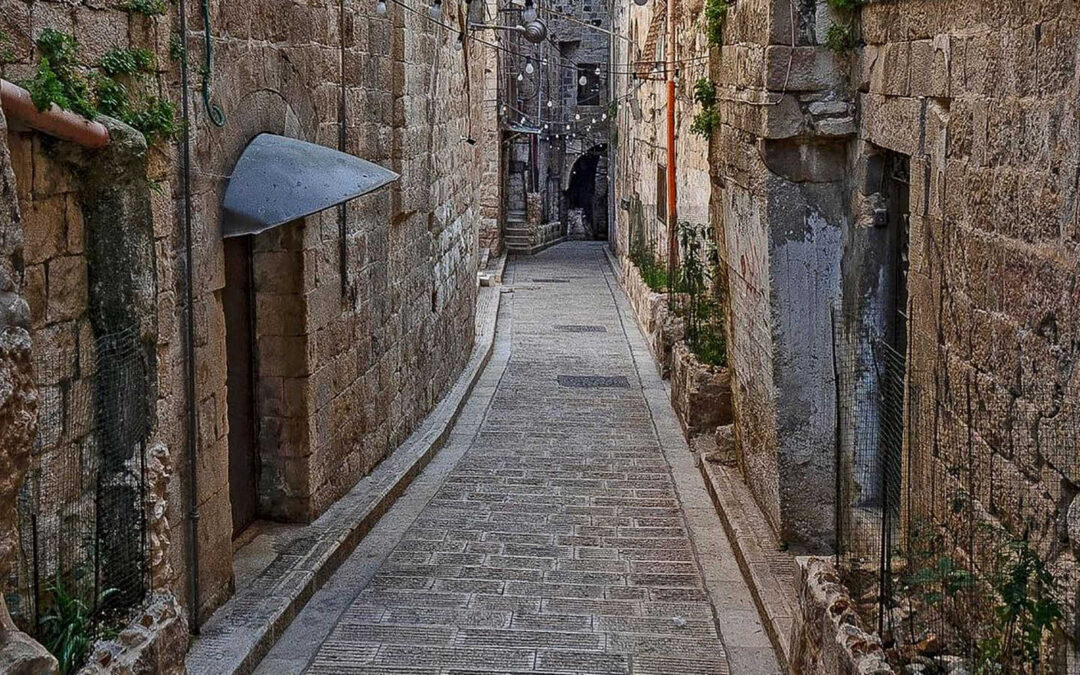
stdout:
POLYGON ((46 646, 62 626, 96 637, 148 588, 146 437, 152 405, 137 330, 39 360, 39 424, 18 500, 9 609, 46 646))

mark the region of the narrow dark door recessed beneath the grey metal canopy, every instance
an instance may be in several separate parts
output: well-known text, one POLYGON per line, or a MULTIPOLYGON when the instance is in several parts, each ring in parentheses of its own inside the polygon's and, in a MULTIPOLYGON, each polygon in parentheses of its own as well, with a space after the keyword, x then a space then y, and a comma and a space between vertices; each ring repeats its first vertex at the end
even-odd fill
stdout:
POLYGON ((222 305, 228 363, 229 499, 232 502, 233 537, 252 524, 258 508, 252 276, 252 238, 226 239, 222 305))

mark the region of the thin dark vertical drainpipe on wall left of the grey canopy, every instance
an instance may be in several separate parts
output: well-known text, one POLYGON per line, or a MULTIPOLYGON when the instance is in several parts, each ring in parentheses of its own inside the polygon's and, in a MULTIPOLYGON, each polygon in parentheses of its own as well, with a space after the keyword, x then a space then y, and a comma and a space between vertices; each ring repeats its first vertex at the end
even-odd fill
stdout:
MULTIPOLYGON (((199 634, 199 457, 198 420, 195 416, 195 316, 192 265, 194 255, 191 246, 191 110, 188 104, 188 13, 186 0, 179 0, 180 39, 180 96, 184 114, 184 339, 185 397, 187 399, 187 451, 188 451, 188 603, 193 635, 199 634)), ((210 39, 210 36, 206 36, 210 39)))

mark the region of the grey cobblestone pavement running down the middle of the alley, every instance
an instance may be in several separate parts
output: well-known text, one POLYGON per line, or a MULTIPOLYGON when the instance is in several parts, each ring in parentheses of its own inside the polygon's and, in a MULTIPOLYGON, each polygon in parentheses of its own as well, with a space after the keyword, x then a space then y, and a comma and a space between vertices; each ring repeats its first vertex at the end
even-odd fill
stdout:
POLYGON ((447 447, 259 672, 777 672, 737 572, 706 589, 606 269, 585 243, 511 264, 447 447))

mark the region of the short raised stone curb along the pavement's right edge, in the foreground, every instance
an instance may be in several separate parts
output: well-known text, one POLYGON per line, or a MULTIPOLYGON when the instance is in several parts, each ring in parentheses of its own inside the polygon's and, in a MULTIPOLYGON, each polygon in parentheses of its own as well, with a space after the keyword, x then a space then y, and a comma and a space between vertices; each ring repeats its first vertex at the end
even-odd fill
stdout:
MULTIPOLYGON (((742 570, 754 604, 757 605, 761 623, 777 652, 777 659, 784 671, 787 671, 791 663, 795 586, 777 578, 771 569, 773 563, 758 541, 755 529, 769 528, 765 514, 758 509, 746 485, 740 478, 731 476, 727 468, 704 459, 699 459, 698 465, 705 480, 705 489, 708 490, 728 541, 731 542, 739 569, 742 570)), ((779 555, 791 558, 792 573, 796 575, 798 566, 795 556, 787 553, 779 555)))

